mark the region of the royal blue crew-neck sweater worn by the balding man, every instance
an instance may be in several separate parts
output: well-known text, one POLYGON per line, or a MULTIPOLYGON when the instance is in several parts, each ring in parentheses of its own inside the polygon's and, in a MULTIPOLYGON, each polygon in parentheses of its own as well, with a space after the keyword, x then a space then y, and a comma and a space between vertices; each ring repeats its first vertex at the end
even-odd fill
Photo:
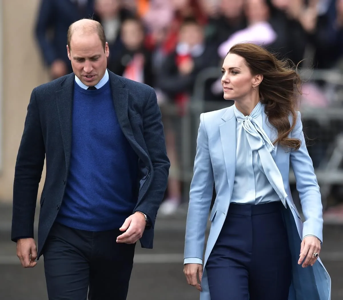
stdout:
POLYGON ((109 81, 95 91, 74 83, 66 190, 56 221, 103 231, 119 228, 137 203, 138 156, 120 129, 109 81))

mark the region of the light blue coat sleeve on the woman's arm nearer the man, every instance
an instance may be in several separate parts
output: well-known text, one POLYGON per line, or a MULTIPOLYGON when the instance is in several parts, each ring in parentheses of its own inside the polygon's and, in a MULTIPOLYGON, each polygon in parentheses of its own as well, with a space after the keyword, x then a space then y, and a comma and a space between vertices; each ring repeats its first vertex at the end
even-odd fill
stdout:
POLYGON ((211 206, 213 183, 209 140, 204 124, 204 114, 202 113, 198 130, 197 153, 194 160, 194 174, 189 193, 184 264, 202 264, 205 230, 211 206))

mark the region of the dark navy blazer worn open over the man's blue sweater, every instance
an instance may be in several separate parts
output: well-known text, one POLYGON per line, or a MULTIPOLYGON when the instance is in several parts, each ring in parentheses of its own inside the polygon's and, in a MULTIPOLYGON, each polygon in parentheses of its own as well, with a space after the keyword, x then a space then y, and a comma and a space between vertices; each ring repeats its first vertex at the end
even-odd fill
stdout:
MULTIPOLYGON (((143 248, 152 248, 155 219, 167 187, 170 166, 161 112, 152 87, 108 73, 120 127, 139 157, 138 199, 133 212, 144 212, 152 223, 140 242, 143 248)), ((46 158, 38 257, 59 211, 69 172, 74 76, 71 73, 33 89, 15 165, 13 241, 34 236, 38 184, 46 158)))

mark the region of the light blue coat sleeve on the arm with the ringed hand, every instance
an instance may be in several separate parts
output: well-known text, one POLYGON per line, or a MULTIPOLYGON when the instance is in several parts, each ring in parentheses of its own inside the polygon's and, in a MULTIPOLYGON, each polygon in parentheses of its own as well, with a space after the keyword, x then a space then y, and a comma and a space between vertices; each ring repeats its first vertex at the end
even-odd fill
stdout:
POLYGON ((301 208, 305 217, 303 238, 312 235, 322 241, 323 207, 321 195, 312 160, 306 148, 300 112, 297 112, 297 120, 291 137, 301 141, 300 148, 291 151, 290 159, 300 196, 301 208))

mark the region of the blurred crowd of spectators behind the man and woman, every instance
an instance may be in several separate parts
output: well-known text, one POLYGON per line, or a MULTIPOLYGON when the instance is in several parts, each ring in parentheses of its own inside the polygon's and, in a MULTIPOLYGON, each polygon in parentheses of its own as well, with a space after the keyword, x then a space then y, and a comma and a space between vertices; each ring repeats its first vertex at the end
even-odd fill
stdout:
MULTIPOLYGON (((187 113, 199 72, 221 66, 230 47, 242 41, 262 45, 299 68, 343 70, 343 0, 41 0, 35 36, 51 79, 72 72, 67 30, 81 18, 102 23, 110 71, 156 91, 171 161, 160 209, 167 215, 182 202, 177 117, 187 113), (165 103, 174 104, 176 118, 165 112, 165 103)), ((305 98, 305 103, 328 106, 331 98, 322 87, 305 85, 312 91, 312 102, 305 98)), ((206 101, 223 101, 222 93, 218 78, 206 81, 206 101)), ((316 121, 311 126, 328 136, 316 121)), ((312 151, 315 167, 328 142, 322 144, 312 151)))

